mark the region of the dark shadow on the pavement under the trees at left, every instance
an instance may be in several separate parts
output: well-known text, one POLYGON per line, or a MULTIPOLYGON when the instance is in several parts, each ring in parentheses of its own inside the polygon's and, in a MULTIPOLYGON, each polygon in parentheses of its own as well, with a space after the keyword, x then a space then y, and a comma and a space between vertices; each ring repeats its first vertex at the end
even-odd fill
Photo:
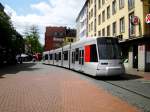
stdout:
POLYGON ((0 68, 0 78, 5 78, 4 75, 6 74, 16 74, 20 71, 34 71, 40 68, 33 67, 36 63, 22 63, 12 66, 5 66, 0 68))

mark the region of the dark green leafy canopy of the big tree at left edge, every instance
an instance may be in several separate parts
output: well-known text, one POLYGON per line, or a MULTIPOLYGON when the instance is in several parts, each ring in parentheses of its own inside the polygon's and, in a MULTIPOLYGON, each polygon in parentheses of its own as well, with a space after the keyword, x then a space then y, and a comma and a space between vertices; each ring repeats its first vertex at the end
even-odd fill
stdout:
POLYGON ((10 17, 3 11, 0 11, 0 46, 15 53, 24 50, 22 36, 14 29, 10 17))

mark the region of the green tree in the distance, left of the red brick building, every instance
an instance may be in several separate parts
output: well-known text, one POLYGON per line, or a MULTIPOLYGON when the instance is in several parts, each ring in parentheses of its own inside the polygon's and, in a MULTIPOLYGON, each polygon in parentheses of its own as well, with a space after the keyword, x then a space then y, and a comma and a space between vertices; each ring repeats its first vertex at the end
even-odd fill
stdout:
POLYGON ((25 45, 26 45, 26 52, 27 53, 42 53, 43 47, 39 42, 39 32, 38 27, 32 25, 29 31, 25 31, 25 45))

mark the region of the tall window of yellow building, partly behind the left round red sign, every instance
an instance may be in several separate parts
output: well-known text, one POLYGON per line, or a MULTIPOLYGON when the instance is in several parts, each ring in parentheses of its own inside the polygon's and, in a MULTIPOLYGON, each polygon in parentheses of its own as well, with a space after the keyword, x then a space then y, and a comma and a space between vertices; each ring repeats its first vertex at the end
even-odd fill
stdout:
POLYGON ((134 12, 129 14, 129 36, 133 36, 135 34, 135 26, 132 24, 132 18, 134 16, 134 12))

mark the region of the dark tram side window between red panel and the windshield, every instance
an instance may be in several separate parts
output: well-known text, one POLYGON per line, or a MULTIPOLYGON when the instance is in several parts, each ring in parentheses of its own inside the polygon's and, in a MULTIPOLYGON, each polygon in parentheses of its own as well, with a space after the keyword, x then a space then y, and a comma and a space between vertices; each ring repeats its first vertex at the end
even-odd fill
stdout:
POLYGON ((90 62, 98 62, 96 45, 90 45, 90 62))

